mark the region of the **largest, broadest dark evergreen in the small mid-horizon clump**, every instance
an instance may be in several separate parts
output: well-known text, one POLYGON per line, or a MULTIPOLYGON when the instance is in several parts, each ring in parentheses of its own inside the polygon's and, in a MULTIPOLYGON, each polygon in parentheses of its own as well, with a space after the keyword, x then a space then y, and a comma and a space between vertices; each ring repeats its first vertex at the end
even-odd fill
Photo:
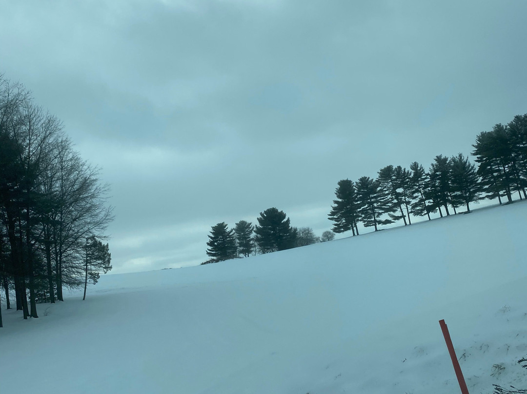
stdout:
POLYGON ((262 253, 270 253, 295 247, 297 232, 291 228, 284 211, 268 208, 260 212, 255 226, 255 241, 262 253))

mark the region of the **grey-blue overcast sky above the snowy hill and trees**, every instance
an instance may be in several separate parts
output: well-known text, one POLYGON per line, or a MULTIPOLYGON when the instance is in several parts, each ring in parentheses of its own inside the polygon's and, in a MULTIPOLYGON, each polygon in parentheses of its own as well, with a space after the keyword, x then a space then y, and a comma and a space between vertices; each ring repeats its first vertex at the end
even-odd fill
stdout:
POLYGON ((112 272, 207 260, 340 179, 428 168, 527 112, 527 1, 0 0, 0 73, 112 186, 112 272))

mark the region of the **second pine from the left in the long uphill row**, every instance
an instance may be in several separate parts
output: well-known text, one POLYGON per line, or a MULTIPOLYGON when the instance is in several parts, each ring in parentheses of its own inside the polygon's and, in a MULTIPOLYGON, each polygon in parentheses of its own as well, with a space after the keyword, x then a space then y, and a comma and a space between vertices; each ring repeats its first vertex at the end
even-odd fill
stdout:
POLYGON ((379 224, 393 223, 391 219, 381 219, 381 216, 392 209, 387 193, 380 188, 379 181, 363 176, 356 183, 357 200, 360 208, 358 214, 364 226, 373 226, 378 230, 379 224))

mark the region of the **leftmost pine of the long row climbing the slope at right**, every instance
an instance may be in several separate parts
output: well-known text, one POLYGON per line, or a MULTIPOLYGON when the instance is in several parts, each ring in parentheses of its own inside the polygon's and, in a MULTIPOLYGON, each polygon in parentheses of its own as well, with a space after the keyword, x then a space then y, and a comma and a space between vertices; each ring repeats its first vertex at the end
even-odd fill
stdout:
POLYGON ((343 233, 352 230, 353 235, 358 235, 358 206, 355 183, 349 179, 343 179, 338 181, 337 185, 337 189, 335 189, 337 199, 333 200, 335 205, 331 206, 328 218, 335 222, 333 231, 343 233))

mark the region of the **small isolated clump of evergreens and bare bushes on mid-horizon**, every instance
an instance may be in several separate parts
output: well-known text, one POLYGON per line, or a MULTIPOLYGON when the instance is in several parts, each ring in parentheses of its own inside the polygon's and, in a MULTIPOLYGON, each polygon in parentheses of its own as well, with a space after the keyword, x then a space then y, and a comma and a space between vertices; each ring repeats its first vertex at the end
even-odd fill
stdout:
MULTIPOLYGON (((241 220, 230 230, 225 222, 212 226, 207 242, 210 259, 202 264, 297 248, 321 241, 309 227, 291 227, 286 213, 277 208, 260 212, 257 221, 258 224, 253 225, 241 220)), ((330 241, 335 238, 335 234, 325 231, 323 237, 325 241, 330 241)))

